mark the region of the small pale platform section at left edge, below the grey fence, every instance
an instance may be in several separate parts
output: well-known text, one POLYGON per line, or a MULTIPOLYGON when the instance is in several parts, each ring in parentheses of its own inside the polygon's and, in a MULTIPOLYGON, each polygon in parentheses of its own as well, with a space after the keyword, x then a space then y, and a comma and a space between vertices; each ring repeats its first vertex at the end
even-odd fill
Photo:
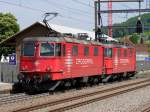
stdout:
POLYGON ((0 82, 0 94, 10 93, 12 90, 12 83, 0 82))

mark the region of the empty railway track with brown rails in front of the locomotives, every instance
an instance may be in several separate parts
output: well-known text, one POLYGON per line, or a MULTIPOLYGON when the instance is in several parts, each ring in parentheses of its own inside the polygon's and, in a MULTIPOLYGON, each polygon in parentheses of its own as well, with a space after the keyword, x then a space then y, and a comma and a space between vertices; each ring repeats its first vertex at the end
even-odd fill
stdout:
POLYGON ((89 103, 100 101, 106 98, 110 98, 116 95, 120 95, 126 92, 130 92, 136 89, 140 89, 146 86, 150 86, 150 79, 143 81, 137 81, 130 84, 124 84, 122 86, 113 87, 110 89, 93 91, 91 93, 85 93, 78 96, 72 96, 56 101, 46 102, 40 105, 34 105, 26 108, 16 109, 13 112, 28 112, 38 109, 48 108, 49 112, 62 112, 65 110, 73 109, 79 106, 83 106, 89 103))

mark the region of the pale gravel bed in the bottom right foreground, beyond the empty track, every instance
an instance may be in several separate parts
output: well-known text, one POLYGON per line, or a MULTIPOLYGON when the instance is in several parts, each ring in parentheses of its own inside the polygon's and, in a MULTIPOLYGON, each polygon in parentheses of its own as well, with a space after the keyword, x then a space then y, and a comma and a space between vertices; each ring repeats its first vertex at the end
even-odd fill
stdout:
POLYGON ((150 104, 150 86, 65 112, 141 112, 150 104))

